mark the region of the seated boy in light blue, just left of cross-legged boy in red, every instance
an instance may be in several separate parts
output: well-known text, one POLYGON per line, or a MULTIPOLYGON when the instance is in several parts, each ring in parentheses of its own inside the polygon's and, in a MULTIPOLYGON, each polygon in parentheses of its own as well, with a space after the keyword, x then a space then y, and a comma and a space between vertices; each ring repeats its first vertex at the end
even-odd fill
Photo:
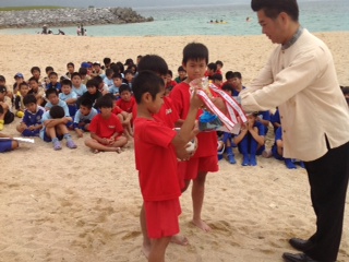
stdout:
POLYGON ((79 138, 84 135, 84 132, 89 131, 89 123, 92 119, 98 115, 97 109, 93 108, 93 102, 84 98, 80 103, 80 109, 74 117, 74 130, 79 138))

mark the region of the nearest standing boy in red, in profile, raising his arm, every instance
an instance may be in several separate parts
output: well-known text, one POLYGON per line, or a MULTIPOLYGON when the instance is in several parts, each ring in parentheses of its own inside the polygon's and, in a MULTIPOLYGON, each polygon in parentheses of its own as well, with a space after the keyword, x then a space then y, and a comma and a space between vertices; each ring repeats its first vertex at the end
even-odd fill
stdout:
POLYGON ((197 133, 194 122, 202 102, 196 94, 193 95, 188 118, 177 133, 153 118, 164 104, 165 83, 161 78, 151 71, 140 72, 133 82, 133 93, 137 103, 135 164, 144 200, 141 226, 142 230, 146 228, 151 238, 151 248, 143 246, 143 251, 148 261, 165 261, 171 236, 179 233, 178 215, 181 213, 176 152, 184 148, 197 133))

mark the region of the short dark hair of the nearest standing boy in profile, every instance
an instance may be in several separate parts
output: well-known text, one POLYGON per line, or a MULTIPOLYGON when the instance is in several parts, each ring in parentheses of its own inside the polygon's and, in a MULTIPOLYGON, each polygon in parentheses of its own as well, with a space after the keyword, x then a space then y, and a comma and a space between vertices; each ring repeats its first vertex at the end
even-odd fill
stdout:
POLYGON ((132 87, 134 98, 137 104, 141 104, 143 94, 149 93, 154 100, 156 95, 160 92, 161 88, 164 88, 164 80, 157 74, 147 70, 142 71, 133 80, 132 87))

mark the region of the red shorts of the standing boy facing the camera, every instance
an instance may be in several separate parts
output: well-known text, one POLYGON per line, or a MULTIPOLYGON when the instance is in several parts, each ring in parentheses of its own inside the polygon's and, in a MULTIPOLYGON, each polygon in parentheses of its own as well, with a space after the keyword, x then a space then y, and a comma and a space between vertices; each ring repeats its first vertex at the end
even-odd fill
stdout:
POLYGON ((181 180, 192 180, 198 172, 218 171, 218 156, 194 157, 188 162, 178 163, 178 172, 181 180))

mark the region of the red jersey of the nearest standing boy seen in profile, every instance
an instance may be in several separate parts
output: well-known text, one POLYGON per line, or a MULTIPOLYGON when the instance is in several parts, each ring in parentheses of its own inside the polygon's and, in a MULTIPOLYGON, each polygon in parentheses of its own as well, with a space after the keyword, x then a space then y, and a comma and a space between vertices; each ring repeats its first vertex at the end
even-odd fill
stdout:
POLYGON ((177 156, 171 144, 177 132, 156 120, 134 120, 135 165, 144 201, 164 201, 181 195, 177 156))

